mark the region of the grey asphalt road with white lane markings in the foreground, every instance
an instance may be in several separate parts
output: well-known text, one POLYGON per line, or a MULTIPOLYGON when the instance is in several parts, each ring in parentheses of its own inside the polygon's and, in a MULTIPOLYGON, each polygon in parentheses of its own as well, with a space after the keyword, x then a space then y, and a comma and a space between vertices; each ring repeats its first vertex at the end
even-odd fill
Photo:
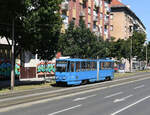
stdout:
POLYGON ((150 115, 150 77, 93 89, 57 100, 0 112, 0 115, 150 115))

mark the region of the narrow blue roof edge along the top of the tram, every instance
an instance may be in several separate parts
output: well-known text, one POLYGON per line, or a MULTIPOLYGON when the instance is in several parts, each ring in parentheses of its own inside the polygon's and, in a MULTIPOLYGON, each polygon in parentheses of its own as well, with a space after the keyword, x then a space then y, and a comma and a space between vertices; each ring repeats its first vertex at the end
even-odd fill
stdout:
POLYGON ((78 59, 78 58, 67 58, 67 59, 57 59, 57 61, 105 61, 105 62, 113 62, 111 59, 78 59))

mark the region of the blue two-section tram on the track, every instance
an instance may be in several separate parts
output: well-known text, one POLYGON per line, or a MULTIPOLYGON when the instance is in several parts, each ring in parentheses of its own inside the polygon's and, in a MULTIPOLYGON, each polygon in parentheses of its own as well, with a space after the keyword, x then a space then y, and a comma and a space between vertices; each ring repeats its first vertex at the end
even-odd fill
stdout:
POLYGON ((114 78, 114 61, 110 59, 57 59, 56 83, 79 85, 114 78))

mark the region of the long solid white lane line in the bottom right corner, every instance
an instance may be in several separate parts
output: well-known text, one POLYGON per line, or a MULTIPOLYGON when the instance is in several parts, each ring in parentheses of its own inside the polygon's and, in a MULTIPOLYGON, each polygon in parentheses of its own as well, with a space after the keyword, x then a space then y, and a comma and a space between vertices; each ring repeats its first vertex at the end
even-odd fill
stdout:
POLYGON ((117 115, 118 113, 120 113, 120 112, 122 112, 122 111, 124 111, 124 110, 126 110, 126 109, 128 109, 128 108, 130 108, 130 107, 132 107, 132 106, 134 106, 134 105, 136 105, 136 104, 138 104, 138 103, 140 103, 140 102, 142 102, 142 101, 148 99, 148 98, 150 98, 150 95, 147 96, 147 97, 145 97, 145 98, 142 98, 142 99, 136 101, 135 103, 132 103, 131 105, 128 105, 128 106, 126 106, 126 107, 124 107, 124 108, 122 108, 122 109, 120 109, 120 110, 118 110, 118 111, 112 113, 111 115, 117 115))

